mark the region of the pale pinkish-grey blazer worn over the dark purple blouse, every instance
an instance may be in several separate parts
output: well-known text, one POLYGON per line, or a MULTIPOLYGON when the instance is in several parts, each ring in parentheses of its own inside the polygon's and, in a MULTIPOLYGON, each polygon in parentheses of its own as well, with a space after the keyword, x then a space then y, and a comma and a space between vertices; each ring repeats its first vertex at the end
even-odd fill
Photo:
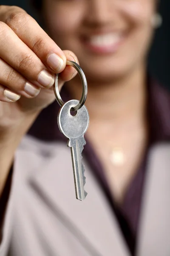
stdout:
MULTIPOLYGON (((0 256, 129 256, 116 216, 85 164, 75 198, 70 148, 26 136, 14 162, 0 256)), ((170 256, 170 144, 150 152, 136 256, 170 256)))

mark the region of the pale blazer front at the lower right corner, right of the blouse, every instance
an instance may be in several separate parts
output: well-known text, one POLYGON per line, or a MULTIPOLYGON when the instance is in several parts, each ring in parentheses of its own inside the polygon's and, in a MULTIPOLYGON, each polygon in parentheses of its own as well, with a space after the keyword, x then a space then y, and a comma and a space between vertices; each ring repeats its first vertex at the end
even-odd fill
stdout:
POLYGON ((170 255, 170 145, 150 153, 140 223, 138 256, 170 255))

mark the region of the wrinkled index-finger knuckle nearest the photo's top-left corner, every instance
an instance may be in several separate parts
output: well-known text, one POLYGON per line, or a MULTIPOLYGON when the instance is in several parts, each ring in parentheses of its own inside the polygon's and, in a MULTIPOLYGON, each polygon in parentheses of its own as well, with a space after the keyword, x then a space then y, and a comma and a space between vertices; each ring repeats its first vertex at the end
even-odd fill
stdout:
POLYGON ((30 16, 26 12, 17 10, 9 13, 8 17, 6 18, 6 24, 9 27, 20 28, 21 26, 24 26, 29 19, 30 16))

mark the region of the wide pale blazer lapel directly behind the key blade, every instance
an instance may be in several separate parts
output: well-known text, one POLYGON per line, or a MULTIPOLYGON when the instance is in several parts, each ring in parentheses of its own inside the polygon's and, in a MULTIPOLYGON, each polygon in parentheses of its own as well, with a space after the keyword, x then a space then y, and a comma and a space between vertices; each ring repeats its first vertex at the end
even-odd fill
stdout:
POLYGON ((70 223, 76 231, 73 235, 81 241, 84 239, 86 249, 90 253, 88 255, 130 255, 116 217, 91 173, 88 163, 85 163, 85 190, 88 195, 85 201, 81 202, 75 197, 71 152, 65 143, 45 143, 44 147, 44 143, 27 137, 17 153, 17 165, 20 169, 23 169, 23 166, 27 168, 23 156, 27 156, 29 163, 29 181, 32 188, 52 210, 59 209, 61 221, 67 220, 65 225, 70 223), (46 151, 46 158, 41 153, 43 148, 46 151), (39 163, 36 173, 34 163, 31 161, 33 153, 37 154, 39 163))

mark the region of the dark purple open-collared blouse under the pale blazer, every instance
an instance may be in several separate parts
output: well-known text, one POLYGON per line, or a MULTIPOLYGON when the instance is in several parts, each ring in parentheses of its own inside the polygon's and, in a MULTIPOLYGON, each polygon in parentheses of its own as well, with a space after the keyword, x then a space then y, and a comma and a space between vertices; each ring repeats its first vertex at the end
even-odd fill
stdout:
MULTIPOLYGON (((135 255, 142 192, 147 171, 146 163, 148 151, 153 144, 170 140, 170 94, 156 83, 156 81, 151 79, 148 79, 147 88, 148 102, 146 115, 150 130, 149 143, 143 162, 141 166, 139 166, 138 172, 127 189, 121 207, 118 207, 114 202, 102 164, 96 156, 90 142, 87 140, 87 144, 83 151, 84 157, 88 160, 96 179, 101 185, 101 189, 105 193, 106 200, 111 204, 113 212, 116 214, 117 221, 122 230, 122 235, 127 242, 131 255, 135 255)), ((65 102, 70 99, 65 89, 62 89, 61 96, 65 102)), ((41 140, 64 140, 66 142, 67 140, 60 133, 57 125, 58 111, 59 105, 57 102, 54 102, 48 108, 44 109, 28 133, 41 140)))

